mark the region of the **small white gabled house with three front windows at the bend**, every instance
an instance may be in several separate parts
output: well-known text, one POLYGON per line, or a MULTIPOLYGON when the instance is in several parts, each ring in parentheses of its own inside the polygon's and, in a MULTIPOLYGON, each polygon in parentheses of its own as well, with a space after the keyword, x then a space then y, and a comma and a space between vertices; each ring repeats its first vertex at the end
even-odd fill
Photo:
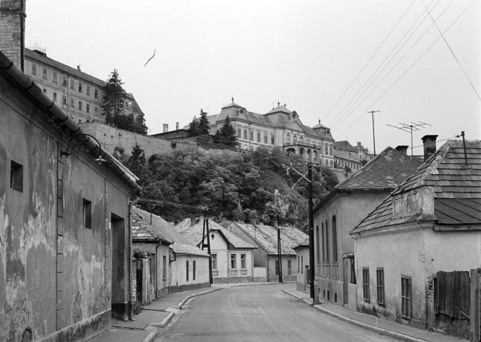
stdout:
MULTIPOLYGON (((258 248, 256 245, 242 240, 212 220, 208 222, 208 233, 203 219, 184 221, 175 228, 187 240, 197 247, 202 247, 202 244, 207 246, 210 242, 212 277, 215 283, 254 281, 253 251, 258 248), (189 222, 193 225, 186 229, 189 222)), ((204 248, 207 250, 207 247, 204 248)))

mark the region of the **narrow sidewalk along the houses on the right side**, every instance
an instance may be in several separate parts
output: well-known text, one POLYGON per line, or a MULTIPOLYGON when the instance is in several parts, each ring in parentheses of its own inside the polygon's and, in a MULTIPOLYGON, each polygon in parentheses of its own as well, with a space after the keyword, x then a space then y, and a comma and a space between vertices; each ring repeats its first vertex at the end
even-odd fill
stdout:
MULTIPOLYGON (((302 299, 306 304, 312 305, 310 294, 299 291, 297 289, 283 290, 292 297, 302 299)), ((325 314, 334 316, 351 323, 359 328, 371 330, 381 335, 390 336, 394 339, 406 342, 455 342, 459 341, 457 337, 445 336, 430 332, 428 330, 417 329, 384 318, 378 318, 371 315, 361 314, 360 312, 348 309, 341 305, 326 302, 319 298, 319 305, 313 307, 325 314)))

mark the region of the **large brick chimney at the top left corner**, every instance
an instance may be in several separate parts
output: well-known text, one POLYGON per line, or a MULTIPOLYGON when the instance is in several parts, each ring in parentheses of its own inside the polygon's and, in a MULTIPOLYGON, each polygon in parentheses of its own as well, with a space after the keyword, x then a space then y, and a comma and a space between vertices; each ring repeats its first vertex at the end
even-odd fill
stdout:
POLYGON ((24 71, 25 0, 1 0, 0 50, 24 71))

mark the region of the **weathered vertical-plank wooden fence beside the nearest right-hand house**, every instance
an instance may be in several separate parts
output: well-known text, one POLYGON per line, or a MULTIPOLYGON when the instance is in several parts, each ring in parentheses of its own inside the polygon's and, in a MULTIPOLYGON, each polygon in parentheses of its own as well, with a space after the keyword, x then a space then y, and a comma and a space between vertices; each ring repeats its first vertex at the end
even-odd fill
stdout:
POLYGON ((437 272, 434 290, 436 314, 468 319, 470 311, 469 281, 468 271, 437 272))

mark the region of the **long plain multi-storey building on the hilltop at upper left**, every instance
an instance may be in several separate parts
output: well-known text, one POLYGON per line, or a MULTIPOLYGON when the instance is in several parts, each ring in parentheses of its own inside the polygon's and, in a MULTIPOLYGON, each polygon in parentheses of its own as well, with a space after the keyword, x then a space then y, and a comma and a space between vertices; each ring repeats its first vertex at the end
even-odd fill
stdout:
MULTIPOLYGON (((106 82, 49 57, 45 49, 25 48, 25 74, 30 76, 76 122, 105 121, 102 112, 103 87, 106 82)), ((126 114, 134 119, 144 114, 131 93, 126 93, 126 114)))

